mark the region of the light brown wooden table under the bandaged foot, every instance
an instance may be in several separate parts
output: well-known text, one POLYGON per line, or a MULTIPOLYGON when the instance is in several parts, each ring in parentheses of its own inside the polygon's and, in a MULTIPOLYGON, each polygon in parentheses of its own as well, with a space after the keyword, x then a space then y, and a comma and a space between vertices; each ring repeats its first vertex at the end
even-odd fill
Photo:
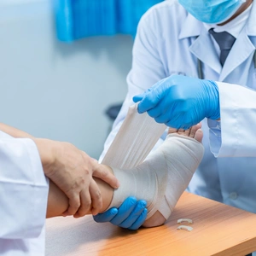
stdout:
POLYGON ((46 256, 246 255, 256 251, 256 214, 184 192, 165 225, 124 230, 96 224, 91 216, 46 222, 46 256), (191 218, 194 230, 177 230, 191 218))

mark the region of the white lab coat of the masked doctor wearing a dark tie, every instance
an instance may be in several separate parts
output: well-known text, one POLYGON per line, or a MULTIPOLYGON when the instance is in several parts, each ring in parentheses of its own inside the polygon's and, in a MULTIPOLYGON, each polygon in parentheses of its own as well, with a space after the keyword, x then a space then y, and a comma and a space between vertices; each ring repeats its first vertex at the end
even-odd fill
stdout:
POLYGON ((189 191, 256 212, 255 17, 253 3, 247 24, 222 68, 206 27, 177 0, 149 9, 137 29, 132 68, 127 77, 128 93, 101 159, 133 103, 132 96, 172 74, 198 77, 200 59, 204 78, 218 81, 221 122, 203 121, 205 155, 189 191))

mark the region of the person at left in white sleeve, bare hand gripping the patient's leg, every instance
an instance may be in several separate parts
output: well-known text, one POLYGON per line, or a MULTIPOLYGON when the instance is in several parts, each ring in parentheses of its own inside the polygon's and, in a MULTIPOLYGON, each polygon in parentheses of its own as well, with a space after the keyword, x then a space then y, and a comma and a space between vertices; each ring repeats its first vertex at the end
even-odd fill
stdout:
POLYGON ((81 193, 89 193, 90 198, 84 202, 81 200, 79 209, 74 212, 75 217, 84 215, 90 202, 94 211, 101 210, 100 189, 92 175, 114 188, 118 187, 118 181, 106 170, 98 168, 100 165, 88 155, 83 158, 81 155, 82 152, 71 144, 37 139, 0 124, 1 255, 44 255, 49 190, 49 179, 45 175, 55 179, 55 184, 67 198, 70 193, 79 195, 80 184, 84 189, 81 193), (81 177, 83 183, 76 185, 76 180, 80 181, 81 177))

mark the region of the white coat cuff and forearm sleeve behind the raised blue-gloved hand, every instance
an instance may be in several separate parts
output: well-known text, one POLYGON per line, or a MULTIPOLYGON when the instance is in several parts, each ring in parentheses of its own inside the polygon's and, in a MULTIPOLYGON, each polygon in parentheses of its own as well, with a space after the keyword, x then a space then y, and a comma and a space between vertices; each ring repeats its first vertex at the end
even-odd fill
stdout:
POLYGON ((212 153, 216 157, 256 157, 256 91, 216 83, 221 121, 208 120, 212 153))

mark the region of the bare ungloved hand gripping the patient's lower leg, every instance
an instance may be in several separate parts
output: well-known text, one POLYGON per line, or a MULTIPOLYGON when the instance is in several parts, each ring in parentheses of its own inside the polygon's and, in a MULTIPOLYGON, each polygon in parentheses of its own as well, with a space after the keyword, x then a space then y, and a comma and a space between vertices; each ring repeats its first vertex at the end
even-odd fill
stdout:
POLYGON ((38 147, 45 176, 69 198, 69 207, 63 216, 79 218, 88 211, 92 214, 100 212, 102 196, 93 177, 102 179, 113 189, 119 187, 117 178, 71 143, 33 140, 38 147))

